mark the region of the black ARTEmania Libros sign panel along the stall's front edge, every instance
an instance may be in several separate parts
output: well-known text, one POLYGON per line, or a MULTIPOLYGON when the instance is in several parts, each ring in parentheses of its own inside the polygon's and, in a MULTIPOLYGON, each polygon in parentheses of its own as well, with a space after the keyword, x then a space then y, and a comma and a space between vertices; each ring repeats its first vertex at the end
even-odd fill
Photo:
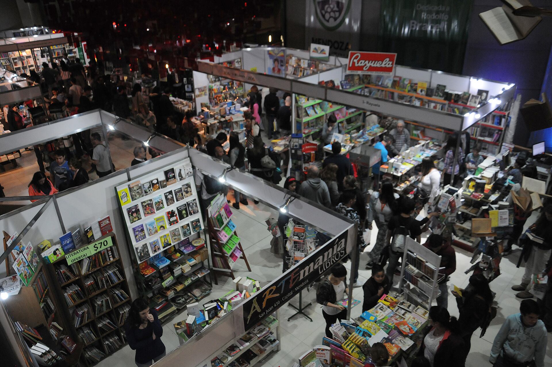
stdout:
POLYGON ((347 234, 317 249, 294 268, 243 302, 243 326, 248 331, 318 279, 347 254, 347 234))

